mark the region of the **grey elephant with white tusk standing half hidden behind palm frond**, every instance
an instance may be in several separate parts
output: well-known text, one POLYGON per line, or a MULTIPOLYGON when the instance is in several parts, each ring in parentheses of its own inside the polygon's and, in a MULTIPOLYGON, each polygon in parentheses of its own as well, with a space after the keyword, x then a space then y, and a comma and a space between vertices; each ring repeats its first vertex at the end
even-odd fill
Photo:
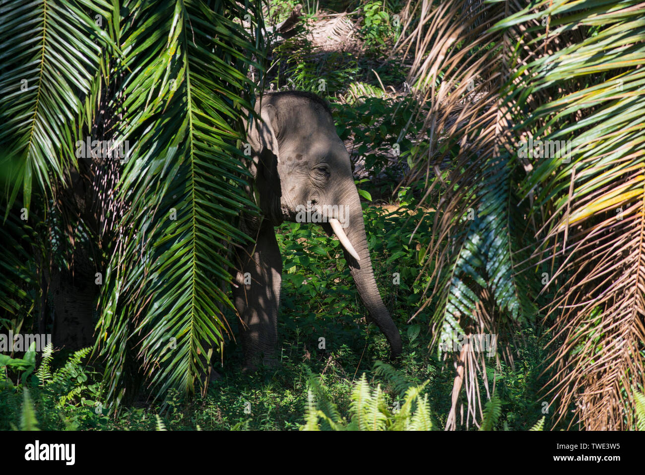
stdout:
POLYGON ((241 217, 241 229, 255 243, 235 250, 232 288, 243 370, 277 363, 282 258, 275 227, 283 221, 317 222, 337 236, 370 319, 386 336, 392 356, 399 356, 401 335, 377 288, 350 155, 328 103, 308 92, 270 92, 257 98, 255 112, 261 120, 245 121, 244 127, 253 176, 248 192, 261 214, 241 217))

